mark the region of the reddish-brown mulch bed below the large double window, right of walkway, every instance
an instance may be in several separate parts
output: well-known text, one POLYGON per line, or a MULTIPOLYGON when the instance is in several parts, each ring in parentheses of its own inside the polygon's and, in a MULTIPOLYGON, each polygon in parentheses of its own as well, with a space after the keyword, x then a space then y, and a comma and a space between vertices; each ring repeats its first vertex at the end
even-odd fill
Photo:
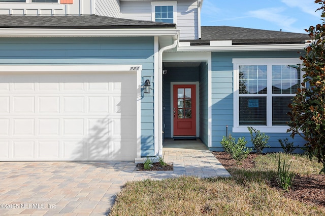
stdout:
MULTIPOLYGON (((257 154, 250 154, 241 164, 237 164, 225 152, 212 152, 219 162, 226 168, 243 168, 248 169, 255 166, 253 159, 257 154)), ((271 180, 270 186, 277 190, 282 190, 277 184, 276 179, 271 180)), ((305 203, 319 205, 325 207, 325 175, 296 175, 289 192, 284 196, 290 199, 300 200, 305 203)))

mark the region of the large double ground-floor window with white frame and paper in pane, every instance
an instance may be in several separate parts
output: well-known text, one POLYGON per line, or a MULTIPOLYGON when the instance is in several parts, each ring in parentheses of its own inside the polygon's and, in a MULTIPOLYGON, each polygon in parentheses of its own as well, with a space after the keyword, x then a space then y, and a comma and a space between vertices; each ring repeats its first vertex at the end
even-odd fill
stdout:
POLYGON ((299 59, 234 59, 234 132, 285 132, 301 83, 299 59), (246 131, 245 131, 246 130, 246 131))

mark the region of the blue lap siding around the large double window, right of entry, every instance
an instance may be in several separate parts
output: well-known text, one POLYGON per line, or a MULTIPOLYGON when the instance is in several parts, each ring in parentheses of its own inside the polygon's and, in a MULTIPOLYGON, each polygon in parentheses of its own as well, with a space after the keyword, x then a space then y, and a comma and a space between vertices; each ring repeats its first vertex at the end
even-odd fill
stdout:
MULTIPOLYGON (((233 58, 299 58, 296 51, 285 52, 224 52, 212 53, 212 148, 221 151, 220 141, 226 136, 226 125, 228 134, 231 133, 236 139, 245 137, 248 146, 251 146, 249 133, 232 133, 233 128, 233 58)), ((267 134, 267 133, 266 133, 267 134)), ((287 133, 269 133, 269 145, 271 149, 266 151, 281 150, 278 142, 280 138, 289 138, 287 133)), ((295 137, 294 144, 303 146, 304 140, 295 137)))

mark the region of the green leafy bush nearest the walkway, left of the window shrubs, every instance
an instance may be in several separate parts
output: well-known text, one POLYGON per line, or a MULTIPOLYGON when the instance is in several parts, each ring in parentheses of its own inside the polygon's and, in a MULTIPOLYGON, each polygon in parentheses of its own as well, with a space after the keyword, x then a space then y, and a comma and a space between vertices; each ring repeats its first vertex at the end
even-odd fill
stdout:
POLYGON ((241 161, 248 156, 252 149, 246 147, 247 141, 244 137, 238 138, 237 143, 235 140, 230 134, 228 137, 223 137, 220 143, 224 151, 229 153, 233 159, 241 161))

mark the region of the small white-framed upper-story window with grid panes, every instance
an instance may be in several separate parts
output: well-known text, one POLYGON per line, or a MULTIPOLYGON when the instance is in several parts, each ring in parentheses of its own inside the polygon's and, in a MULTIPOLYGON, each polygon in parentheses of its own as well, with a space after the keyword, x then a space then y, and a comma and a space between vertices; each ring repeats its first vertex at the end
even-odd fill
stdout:
POLYGON ((151 21, 177 23, 177 2, 151 2, 151 21))

